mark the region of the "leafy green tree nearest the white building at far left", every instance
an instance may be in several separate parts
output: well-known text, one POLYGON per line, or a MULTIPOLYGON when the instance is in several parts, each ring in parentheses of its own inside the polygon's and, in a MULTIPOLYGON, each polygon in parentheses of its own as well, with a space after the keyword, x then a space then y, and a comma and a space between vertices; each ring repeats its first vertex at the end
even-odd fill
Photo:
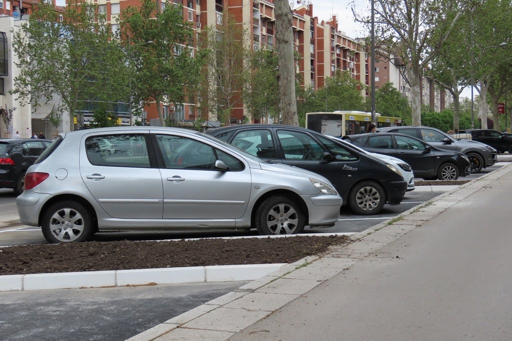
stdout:
POLYGON ((59 97, 53 119, 59 122, 68 111, 70 130, 86 103, 117 99, 125 90, 123 54, 97 5, 71 0, 60 13, 51 1, 42 0, 13 33, 12 49, 20 73, 11 93, 34 108, 59 97))

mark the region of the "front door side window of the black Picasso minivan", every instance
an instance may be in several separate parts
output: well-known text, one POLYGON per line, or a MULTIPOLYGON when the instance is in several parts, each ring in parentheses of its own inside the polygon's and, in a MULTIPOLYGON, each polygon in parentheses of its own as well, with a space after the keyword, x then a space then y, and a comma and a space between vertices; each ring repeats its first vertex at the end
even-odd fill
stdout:
POLYGON ((278 139, 287 160, 322 160, 324 150, 305 133, 278 130, 278 139))

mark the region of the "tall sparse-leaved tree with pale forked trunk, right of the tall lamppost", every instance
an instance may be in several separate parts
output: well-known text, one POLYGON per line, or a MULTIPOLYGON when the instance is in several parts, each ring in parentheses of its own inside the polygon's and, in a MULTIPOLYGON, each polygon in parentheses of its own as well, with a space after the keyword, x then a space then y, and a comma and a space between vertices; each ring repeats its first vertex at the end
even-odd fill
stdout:
MULTIPOLYGON (((423 70, 441 50, 460 15, 462 0, 372 0, 375 7, 375 37, 379 48, 396 54, 404 63, 404 76, 411 86, 412 124, 421 125, 420 81, 423 70), (440 34, 434 35, 437 31, 440 34)), ((356 21, 371 24, 355 14, 356 21)))

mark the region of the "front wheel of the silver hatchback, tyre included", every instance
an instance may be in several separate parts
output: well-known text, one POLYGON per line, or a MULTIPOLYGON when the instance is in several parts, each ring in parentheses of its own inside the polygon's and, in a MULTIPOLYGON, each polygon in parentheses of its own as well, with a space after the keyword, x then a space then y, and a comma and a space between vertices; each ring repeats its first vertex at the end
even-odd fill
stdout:
POLYGON ((286 196, 270 197, 256 210, 255 224, 262 235, 290 235, 304 230, 301 207, 286 196))

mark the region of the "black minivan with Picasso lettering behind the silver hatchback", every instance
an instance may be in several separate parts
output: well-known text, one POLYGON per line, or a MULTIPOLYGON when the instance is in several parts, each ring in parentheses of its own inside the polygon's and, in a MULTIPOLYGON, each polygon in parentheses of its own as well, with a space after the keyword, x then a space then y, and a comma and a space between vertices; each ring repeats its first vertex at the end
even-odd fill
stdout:
POLYGON ((315 131, 276 124, 208 128, 206 133, 269 163, 304 168, 327 177, 355 213, 377 214, 399 204, 407 190, 400 171, 315 131))

